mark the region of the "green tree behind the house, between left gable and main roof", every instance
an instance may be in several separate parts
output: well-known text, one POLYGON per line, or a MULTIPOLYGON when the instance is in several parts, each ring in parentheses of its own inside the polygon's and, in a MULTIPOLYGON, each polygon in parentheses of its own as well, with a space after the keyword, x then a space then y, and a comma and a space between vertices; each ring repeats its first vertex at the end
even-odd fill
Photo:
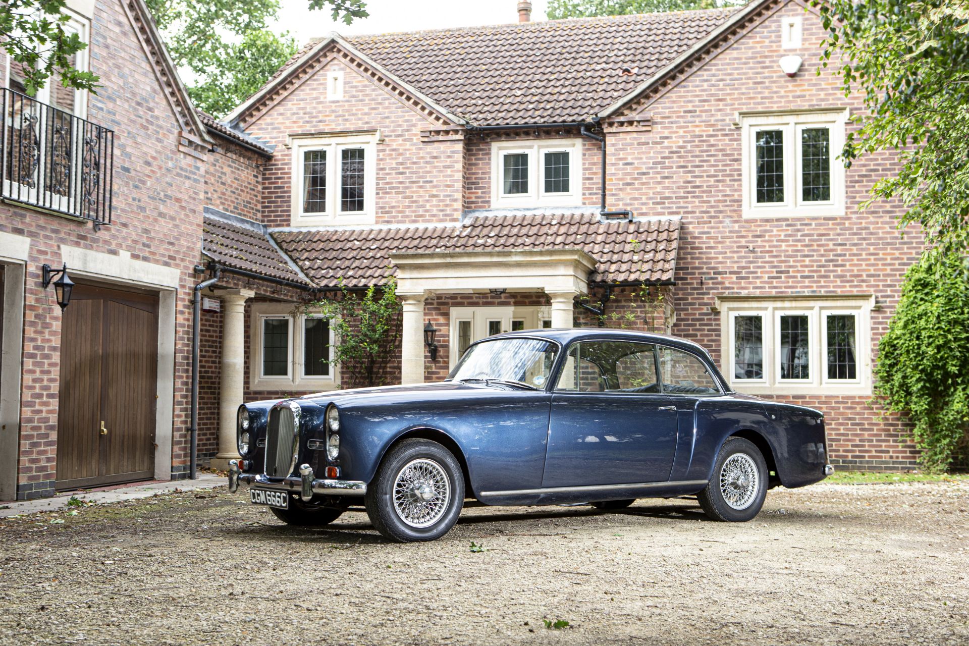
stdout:
MULTIPOLYGON (((269 21, 279 0, 146 0, 165 37, 172 61, 197 106, 223 116, 251 96, 297 51, 288 34, 269 21)), ((365 17, 362 0, 310 0, 310 9, 332 10, 334 20, 365 17)))

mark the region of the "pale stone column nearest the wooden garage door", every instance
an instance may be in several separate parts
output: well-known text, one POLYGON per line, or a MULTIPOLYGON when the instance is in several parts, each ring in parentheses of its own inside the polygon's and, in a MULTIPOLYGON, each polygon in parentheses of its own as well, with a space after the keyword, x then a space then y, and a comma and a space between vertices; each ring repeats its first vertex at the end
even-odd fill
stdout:
POLYGON ((245 301, 256 295, 250 290, 232 290, 222 295, 222 362, 219 366, 219 452, 212 458, 212 469, 226 470, 230 460, 238 460, 235 424, 244 397, 245 382, 245 301))

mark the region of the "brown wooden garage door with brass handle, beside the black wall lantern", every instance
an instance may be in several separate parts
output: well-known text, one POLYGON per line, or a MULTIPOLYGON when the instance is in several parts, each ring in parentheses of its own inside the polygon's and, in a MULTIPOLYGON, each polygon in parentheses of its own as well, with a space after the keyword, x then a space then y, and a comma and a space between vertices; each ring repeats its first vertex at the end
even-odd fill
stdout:
POLYGON ((61 329, 57 488, 154 476, 158 297, 78 285, 61 329))

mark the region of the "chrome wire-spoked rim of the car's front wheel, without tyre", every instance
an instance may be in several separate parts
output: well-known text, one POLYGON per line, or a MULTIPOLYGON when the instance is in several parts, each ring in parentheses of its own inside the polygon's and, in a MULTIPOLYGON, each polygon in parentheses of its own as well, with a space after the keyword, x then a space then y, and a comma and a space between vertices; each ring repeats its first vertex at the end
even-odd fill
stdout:
POLYGON ((411 527, 430 527, 451 502, 451 480, 437 462, 408 462, 393 481, 393 509, 411 527))

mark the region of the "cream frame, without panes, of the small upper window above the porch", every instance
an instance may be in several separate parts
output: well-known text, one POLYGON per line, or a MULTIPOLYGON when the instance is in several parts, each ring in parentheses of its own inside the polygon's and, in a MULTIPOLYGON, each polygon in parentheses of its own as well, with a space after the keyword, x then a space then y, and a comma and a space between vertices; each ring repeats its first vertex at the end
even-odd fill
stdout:
POLYGON ((581 206, 582 141, 581 139, 536 139, 530 141, 491 142, 491 207, 581 206), (569 153, 569 191, 546 193, 545 154, 569 153), (528 156, 528 192, 506 194, 504 159, 506 155, 528 156))

